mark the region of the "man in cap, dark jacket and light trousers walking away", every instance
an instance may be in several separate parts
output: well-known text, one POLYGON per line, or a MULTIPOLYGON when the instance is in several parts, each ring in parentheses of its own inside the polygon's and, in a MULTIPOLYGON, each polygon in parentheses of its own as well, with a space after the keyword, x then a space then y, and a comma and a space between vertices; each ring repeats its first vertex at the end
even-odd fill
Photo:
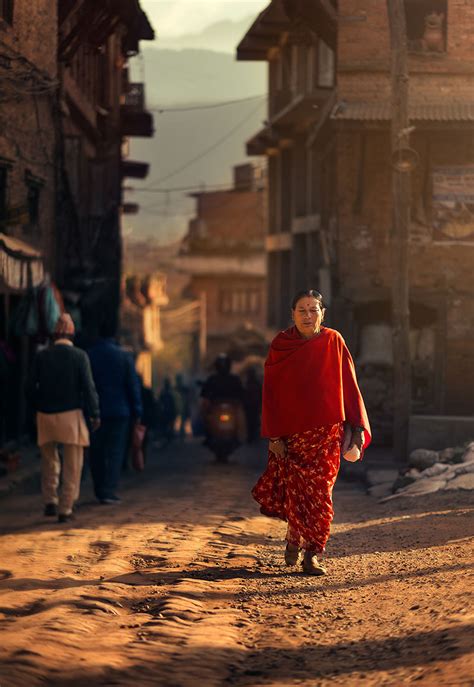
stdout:
POLYGON ((34 359, 28 395, 36 410, 44 514, 67 522, 79 498, 84 447, 89 445, 84 414, 97 430, 100 412, 89 358, 73 344, 74 322, 68 313, 59 317, 53 338, 54 345, 34 359), (58 444, 63 445, 62 470, 58 444))

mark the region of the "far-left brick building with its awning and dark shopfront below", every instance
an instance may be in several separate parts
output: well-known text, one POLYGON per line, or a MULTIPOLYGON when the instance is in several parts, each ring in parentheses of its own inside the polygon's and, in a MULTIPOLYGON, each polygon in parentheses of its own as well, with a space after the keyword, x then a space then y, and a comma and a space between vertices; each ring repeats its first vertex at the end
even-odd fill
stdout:
POLYGON ((56 268, 56 5, 0 3, 0 447, 23 428, 33 350, 12 337, 11 314, 56 268))

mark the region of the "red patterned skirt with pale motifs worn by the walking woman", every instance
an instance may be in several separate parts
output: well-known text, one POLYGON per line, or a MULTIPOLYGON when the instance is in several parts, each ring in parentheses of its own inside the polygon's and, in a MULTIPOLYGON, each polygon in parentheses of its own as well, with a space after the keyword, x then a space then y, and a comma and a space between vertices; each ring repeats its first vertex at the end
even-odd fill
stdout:
POLYGON ((332 490, 339 472, 343 423, 286 438, 287 455, 268 452, 268 465, 252 489, 263 515, 288 523, 287 541, 323 552, 334 517, 332 490))

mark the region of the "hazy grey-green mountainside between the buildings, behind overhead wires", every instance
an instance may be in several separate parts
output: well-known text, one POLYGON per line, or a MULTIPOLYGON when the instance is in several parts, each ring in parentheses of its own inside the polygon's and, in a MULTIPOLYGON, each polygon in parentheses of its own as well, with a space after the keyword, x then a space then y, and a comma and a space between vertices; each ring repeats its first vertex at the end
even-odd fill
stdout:
MULTIPOLYGON (((153 139, 131 141, 131 159, 149 162, 151 170, 143 181, 125 180, 127 187, 135 189, 126 199, 142 208, 138 215, 125 218, 126 233, 130 240, 148 235, 169 243, 185 233, 193 214, 190 191, 141 193, 139 189, 230 184, 232 166, 248 160, 245 142, 262 128, 267 110, 265 98, 209 109, 166 109, 265 94, 266 65, 236 62, 232 55, 209 50, 148 48, 143 55, 147 106, 165 111, 154 112, 153 139)), ((138 69, 132 78, 141 80, 138 69)))

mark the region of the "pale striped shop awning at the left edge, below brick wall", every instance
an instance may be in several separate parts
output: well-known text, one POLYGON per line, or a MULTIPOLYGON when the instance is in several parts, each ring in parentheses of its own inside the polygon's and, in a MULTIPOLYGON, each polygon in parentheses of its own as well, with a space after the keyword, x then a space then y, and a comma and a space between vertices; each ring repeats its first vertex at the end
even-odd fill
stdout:
POLYGON ((43 277, 41 251, 0 232, 0 285, 22 291, 30 286, 38 286, 43 277))

